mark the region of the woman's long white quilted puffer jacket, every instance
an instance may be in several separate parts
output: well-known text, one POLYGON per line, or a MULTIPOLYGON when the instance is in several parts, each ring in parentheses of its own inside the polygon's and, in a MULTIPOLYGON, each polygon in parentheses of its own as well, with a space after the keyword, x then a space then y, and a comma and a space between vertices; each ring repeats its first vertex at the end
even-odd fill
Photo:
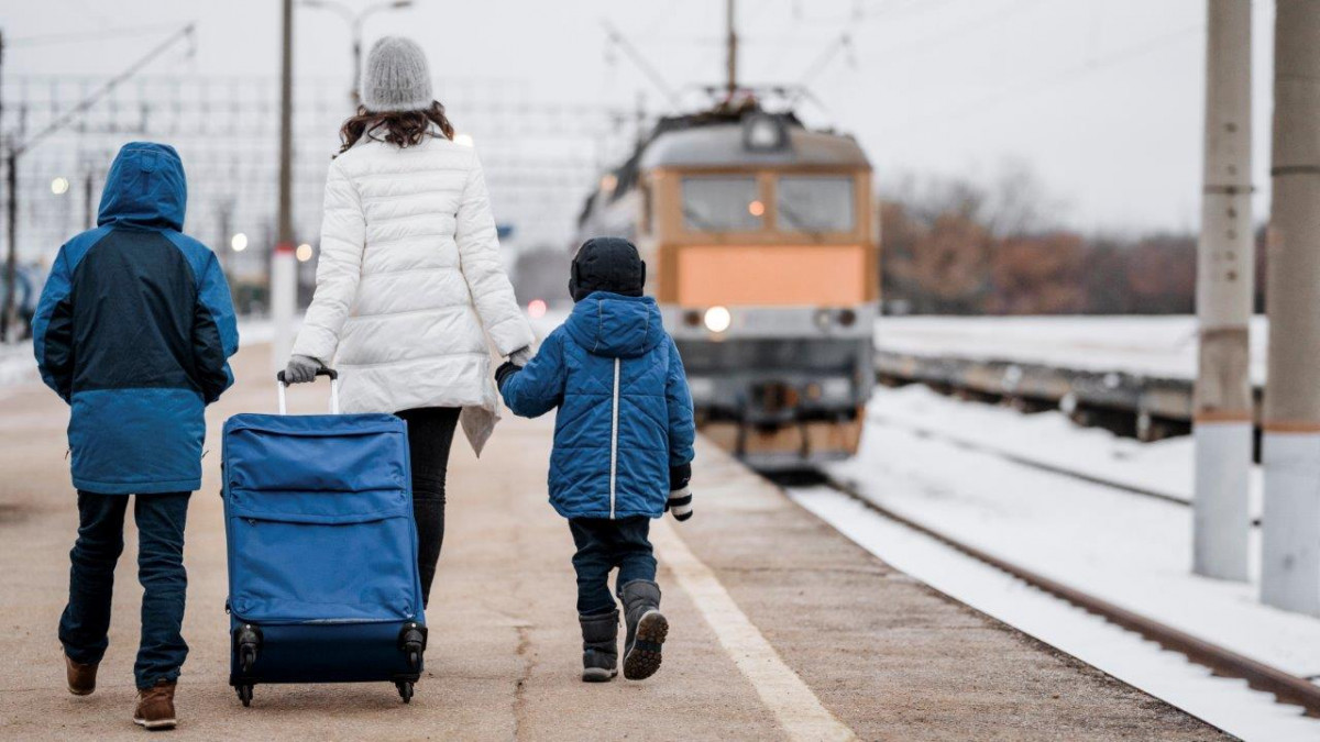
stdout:
POLYGON ((486 335, 502 355, 533 339, 477 152, 363 137, 330 164, 317 290, 293 353, 339 371, 345 412, 462 407, 480 453, 498 420, 486 335))

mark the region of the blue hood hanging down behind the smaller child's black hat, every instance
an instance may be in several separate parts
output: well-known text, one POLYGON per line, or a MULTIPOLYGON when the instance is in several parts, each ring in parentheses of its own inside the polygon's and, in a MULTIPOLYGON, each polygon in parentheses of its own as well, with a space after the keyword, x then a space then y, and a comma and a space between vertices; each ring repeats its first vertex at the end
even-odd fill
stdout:
POLYGON ((649 296, 594 292, 564 323, 573 342, 593 355, 636 358, 665 338, 660 308, 649 296))

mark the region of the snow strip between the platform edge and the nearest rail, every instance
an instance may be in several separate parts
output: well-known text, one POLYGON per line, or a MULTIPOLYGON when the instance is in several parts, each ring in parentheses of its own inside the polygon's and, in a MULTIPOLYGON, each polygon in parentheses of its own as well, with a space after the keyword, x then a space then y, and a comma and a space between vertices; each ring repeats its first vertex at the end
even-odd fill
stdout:
MULTIPOLYGON (((900 486, 894 483, 894 489, 900 486)), ((1230 734, 1271 742, 1320 738, 1320 720, 1302 716, 1299 706, 1278 704, 1245 681, 1214 677, 1177 652, 876 515, 846 495, 828 487, 789 494, 862 548, 936 590, 1230 734)))

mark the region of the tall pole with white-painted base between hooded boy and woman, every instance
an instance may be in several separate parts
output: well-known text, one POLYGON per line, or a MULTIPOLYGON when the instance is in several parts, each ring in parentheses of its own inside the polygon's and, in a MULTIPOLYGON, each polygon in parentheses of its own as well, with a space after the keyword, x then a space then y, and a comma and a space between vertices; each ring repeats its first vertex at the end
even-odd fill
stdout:
POLYGON ((279 368, 293 346, 296 304, 293 259, 293 0, 284 0, 284 49, 280 66, 280 215, 271 257, 271 359, 279 368))

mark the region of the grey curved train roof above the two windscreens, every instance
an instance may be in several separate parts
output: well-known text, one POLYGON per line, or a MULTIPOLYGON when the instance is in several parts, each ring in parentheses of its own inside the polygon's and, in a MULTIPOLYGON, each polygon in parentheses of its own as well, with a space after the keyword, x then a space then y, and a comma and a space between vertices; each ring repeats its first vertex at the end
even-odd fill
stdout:
POLYGON ((869 166, 866 153, 851 136, 803 128, 785 121, 787 143, 772 149, 744 145, 742 123, 684 128, 657 135, 642 152, 640 166, 718 168, 730 165, 840 165, 869 166))

